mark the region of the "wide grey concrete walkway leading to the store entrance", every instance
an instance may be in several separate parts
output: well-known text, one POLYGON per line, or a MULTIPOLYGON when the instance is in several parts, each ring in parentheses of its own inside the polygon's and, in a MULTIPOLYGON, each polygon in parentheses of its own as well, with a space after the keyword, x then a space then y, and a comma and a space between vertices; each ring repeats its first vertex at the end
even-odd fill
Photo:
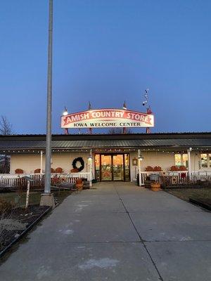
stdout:
POLYGON ((208 281, 211 213, 132 183, 70 195, 0 267, 1 281, 208 281))

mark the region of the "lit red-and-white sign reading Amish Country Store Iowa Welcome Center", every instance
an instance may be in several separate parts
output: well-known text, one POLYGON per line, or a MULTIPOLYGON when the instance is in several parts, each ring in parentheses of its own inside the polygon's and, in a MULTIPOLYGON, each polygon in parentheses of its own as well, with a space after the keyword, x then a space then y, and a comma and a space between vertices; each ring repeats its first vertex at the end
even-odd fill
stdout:
POLYGON ((87 110, 61 117, 61 128, 153 127, 154 116, 131 110, 87 110))

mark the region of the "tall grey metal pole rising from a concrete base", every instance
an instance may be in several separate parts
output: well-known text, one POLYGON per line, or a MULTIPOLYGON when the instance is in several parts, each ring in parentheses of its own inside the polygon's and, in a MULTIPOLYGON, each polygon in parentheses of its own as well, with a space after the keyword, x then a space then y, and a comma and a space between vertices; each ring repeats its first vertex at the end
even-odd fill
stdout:
POLYGON ((48 89, 46 117, 46 169, 44 192, 51 192, 51 111, 52 111, 52 35, 53 35, 53 0, 49 0, 49 52, 48 52, 48 89))

